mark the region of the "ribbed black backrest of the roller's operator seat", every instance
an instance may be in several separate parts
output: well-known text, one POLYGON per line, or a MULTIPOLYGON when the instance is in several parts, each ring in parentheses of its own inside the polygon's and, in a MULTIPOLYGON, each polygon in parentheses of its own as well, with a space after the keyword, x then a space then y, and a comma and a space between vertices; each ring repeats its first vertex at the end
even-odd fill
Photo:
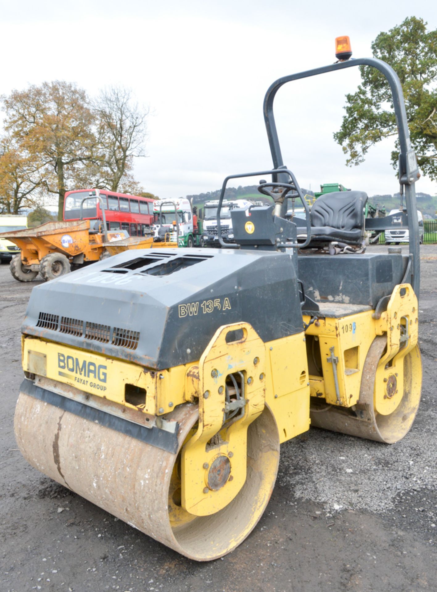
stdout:
POLYGON ((329 226, 338 230, 364 227, 364 191, 335 191, 320 195, 311 208, 311 226, 329 226))

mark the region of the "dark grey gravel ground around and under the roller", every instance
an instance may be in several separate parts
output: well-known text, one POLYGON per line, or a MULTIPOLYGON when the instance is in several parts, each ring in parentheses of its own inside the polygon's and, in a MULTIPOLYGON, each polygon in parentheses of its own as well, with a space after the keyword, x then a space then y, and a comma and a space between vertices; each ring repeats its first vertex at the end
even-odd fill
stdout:
MULTIPOLYGON (((385 247, 370 247, 385 251, 385 247)), ((0 267, 0 592, 437 590, 437 246, 421 247, 422 403, 394 446, 323 430, 282 445, 271 502, 249 538, 189 561, 29 466, 13 415, 31 284, 0 267)))

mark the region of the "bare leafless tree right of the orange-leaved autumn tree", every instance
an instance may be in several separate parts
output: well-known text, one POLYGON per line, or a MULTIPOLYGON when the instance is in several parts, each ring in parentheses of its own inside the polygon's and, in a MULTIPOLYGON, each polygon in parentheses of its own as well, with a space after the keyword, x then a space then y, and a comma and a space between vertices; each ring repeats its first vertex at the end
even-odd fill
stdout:
POLYGON ((93 110, 100 148, 95 162, 101 165, 96 182, 117 191, 130 181, 133 159, 146 156, 149 108, 140 107, 130 89, 111 86, 101 91, 93 110))

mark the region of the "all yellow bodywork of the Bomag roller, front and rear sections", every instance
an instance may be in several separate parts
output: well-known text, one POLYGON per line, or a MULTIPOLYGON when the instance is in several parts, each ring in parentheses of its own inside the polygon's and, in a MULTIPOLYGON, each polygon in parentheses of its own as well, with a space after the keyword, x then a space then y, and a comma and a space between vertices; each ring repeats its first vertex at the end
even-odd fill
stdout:
MULTIPOLYGON (((182 507, 207 516, 225 507, 246 480, 246 436, 250 423, 268 407, 285 442, 310 427, 310 395, 330 406, 353 408, 360 403, 360 385, 369 348, 375 337, 387 335, 378 362, 375 410, 392 413, 403 389, 403 360, 417 344, 417 298, 409 284, 398 285, 380 318, 364 311, 340 318, 324 317, 306 333, 264 343, 248 323, 220 327, 201 359, 190 365, 147 371, 136 363, 107 358, 36 337, 23 337, 23 368, 27 375, 61 382, 70 395, 92 396, 140 411, 145 419, 170 413, 176 406, 198 401, 195 432, 182 449, 182 507), (230 332, 242 337, 227 342, 230 332), (310 374, 313 348, 319 349, 321 372, 310 374), (230 374, 244 377, 244 406, 237 420, 224 423, 225 385, 230 374), (129 385, 127 388, 126 385, 129 385), (139 395, 128 396, 131 389, 139 395), (143 394, 143 395, 142 395, 143 394), (212 443, 211 443, 212 442, 212 443), (208 469, 226 461, 226 486, 208 487, 208 469)), ((65 394, 65 392, 64 392, 65 394)))

